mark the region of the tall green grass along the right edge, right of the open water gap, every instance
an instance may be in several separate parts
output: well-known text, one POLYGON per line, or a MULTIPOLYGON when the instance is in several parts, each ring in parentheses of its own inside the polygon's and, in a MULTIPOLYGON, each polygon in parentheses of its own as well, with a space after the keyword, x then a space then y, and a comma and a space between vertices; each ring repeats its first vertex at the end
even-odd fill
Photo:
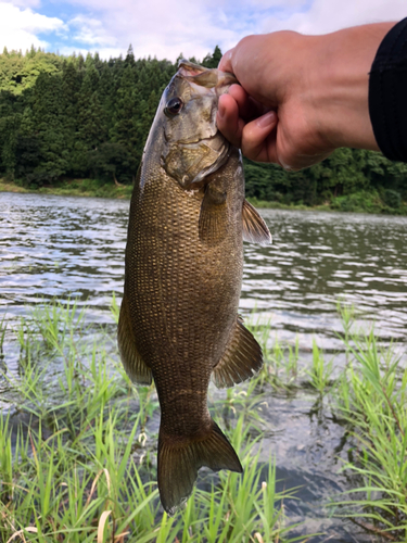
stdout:
POLYGON ((355 331, 355 307, 339 300, 338 313, 346 364, 335 380, 332 361, 325 359, 315 340, 311 364, 301 369, 297 341, 294 348, 277 339, 270 345, 271 323, 252 317, 251 329, 267 357, 258 379, 291 391, 303 383, 328 396, 354 443, 343 471, 355 487, 331 496, 332 512, 385 541, 402 543, 407 541, 407 368, 392 348, 378 345, 374 330, 355 331))

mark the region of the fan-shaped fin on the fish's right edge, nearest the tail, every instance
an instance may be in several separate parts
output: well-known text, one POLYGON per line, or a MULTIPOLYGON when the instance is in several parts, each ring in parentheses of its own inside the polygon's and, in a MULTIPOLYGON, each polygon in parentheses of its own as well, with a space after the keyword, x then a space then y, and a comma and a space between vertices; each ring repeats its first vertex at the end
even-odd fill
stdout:
POLYGON ((212 374, 218 389, 233 387, 257 374, 263 366, 260 345, 238 317, 228 345, 212 374))

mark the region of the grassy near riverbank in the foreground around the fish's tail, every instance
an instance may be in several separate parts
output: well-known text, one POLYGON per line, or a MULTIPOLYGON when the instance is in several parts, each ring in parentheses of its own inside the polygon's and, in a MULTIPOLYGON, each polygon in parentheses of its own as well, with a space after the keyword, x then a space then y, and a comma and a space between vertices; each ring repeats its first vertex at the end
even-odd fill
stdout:
MULTIPOLYGON (((12 330, 18 372, 0 371, 16 399, 9 415, 0 416, 0 541, 326 541, 290 522, 284 512, 298 492, 295 481, 278 491, 274 459, 259 463, 266 437, 262 406, 274 394, 307 389, 315 416, 329 412, 352 437, 343 470, 354 488, 336 491, 325 506, 331 515, 353 518, 355 533, 361 527, 370 534, 357 541, 405 542, 407 371, 391 352, 380 351, 373 333, 353 332, 352 307, 339 310, 347 365, 335 376, 316 343, 311 365, 301 369, 297 349, 270 344, 269 324, 249 319, 265 366, 249 383, 211 402, 244 472, 201 471, 186 508, 171 518, 160 506, 155 482, 154 384, 131 384, 113 325, 88 329, 85 310, 72 302, 34 307, 12 330), (64 370, 55 375, 61 358, 64 370)), ((117 323, 114 299, 112 317, 117 323)))

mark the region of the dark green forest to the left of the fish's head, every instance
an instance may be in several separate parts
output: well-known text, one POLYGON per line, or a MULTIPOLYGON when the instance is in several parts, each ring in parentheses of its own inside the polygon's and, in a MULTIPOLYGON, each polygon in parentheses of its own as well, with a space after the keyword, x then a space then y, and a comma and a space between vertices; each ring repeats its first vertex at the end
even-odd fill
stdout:
POLYGON ((29 189, 62 177, 131 184, 176 66, 156 59, 0 55, 0 176, 29 189))

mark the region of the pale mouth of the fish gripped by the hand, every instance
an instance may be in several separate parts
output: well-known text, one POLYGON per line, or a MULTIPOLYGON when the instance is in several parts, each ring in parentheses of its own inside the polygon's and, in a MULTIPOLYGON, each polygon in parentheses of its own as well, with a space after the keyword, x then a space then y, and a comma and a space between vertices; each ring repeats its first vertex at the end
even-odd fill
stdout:
POLYGON ((239 85, 233 74, 217 68, 206 68, 185 59, 178 63, 177 76, 188 80, 199 93, 204 89, 215 89, 217 94, 222 94, 231 85, 239 85))

